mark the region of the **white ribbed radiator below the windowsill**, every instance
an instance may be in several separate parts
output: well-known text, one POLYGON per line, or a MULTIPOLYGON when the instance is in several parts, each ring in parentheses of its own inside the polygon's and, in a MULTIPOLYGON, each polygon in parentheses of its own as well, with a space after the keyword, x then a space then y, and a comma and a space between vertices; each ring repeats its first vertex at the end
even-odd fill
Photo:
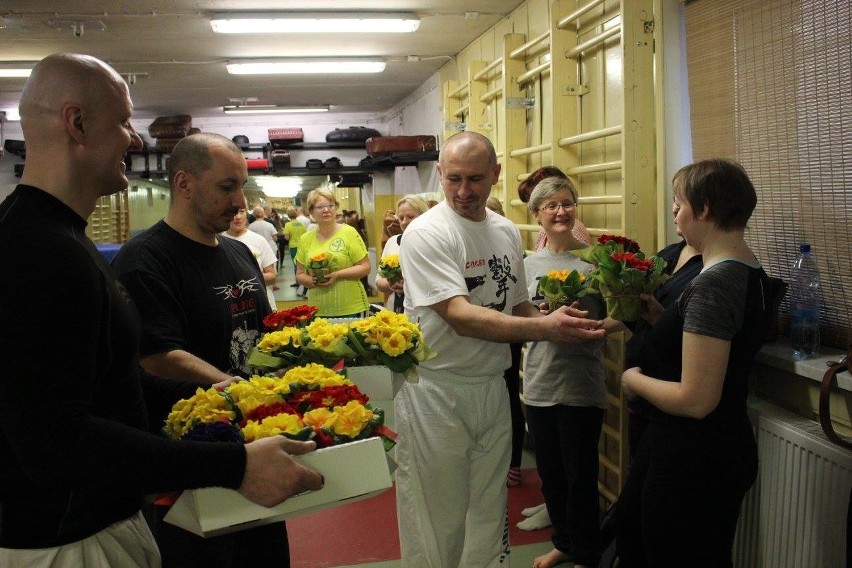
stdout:
POLYGON ((843 568, 852 452, 819 425, 765 401, 749 404, 760 465, 734 539, 736 568, 843 568))

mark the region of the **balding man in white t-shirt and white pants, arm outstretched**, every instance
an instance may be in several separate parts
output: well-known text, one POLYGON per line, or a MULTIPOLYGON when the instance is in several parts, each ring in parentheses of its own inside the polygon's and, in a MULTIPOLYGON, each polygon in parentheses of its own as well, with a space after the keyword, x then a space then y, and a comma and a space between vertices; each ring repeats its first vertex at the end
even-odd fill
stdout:
POLYGON ((585 312, 544 316, 530 303, 518 229, 485 206, 500 175, 486 137, 451 137, 437 169, 445 200, 400 248, 405 313, 437 352, 395 399, 402 564, 488 568, 509 552, 508 344, 605 333, 585 312))

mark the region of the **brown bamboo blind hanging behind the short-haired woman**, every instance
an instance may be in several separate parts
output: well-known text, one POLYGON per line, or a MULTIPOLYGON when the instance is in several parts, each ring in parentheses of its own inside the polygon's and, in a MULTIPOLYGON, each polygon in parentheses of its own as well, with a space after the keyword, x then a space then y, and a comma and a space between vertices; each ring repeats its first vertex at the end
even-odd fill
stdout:
MULTIPOLYGON (((852 315, 852 3, 694 0, 686 5, 696 160, 738 160, 758 192, 746 237, 789 282, 810 243, 823 343, 846 348, 852 315)), ((781 307, 789 317, 788 299, 781 307)))

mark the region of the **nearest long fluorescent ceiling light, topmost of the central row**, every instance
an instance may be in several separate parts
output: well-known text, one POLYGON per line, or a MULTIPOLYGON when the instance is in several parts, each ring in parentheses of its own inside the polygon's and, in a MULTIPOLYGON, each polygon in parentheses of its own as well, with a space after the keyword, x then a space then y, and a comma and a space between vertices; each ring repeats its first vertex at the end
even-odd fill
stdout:
POLYGON ((414 14, 382 12, 274 12, 215 14, 220 34, 406 33, 420 27, 414 14))

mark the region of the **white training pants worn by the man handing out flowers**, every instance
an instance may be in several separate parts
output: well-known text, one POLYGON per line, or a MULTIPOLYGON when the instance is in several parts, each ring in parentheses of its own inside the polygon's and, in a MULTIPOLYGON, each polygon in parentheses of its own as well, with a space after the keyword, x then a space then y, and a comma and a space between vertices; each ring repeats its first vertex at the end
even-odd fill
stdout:
POLYGON ((426 378, 395 398, 403 568, 509 566, 503 376, 426 378))

